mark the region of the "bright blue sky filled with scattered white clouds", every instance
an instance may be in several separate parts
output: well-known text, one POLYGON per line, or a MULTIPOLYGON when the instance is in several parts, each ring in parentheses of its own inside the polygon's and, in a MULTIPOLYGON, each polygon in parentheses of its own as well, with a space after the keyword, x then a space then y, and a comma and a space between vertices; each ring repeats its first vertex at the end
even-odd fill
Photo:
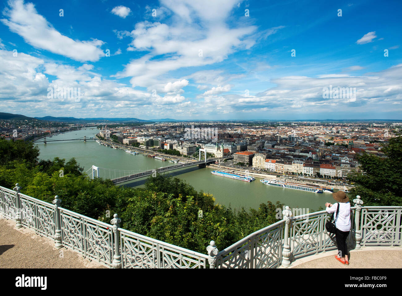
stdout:
POLYGON ((337 2, 4 1, 0 111, 402 119, 402 2, 337 2))

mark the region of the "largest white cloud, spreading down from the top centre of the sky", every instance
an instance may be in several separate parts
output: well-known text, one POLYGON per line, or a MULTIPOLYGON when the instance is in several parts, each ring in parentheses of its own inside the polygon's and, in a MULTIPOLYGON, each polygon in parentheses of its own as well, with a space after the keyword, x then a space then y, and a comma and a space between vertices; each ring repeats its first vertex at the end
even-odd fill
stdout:
POLYGON ((254 42, 250 41, 250 35, 256 31, 256 26, 240 25, 233 28, 226 24, 227 16, 237 1, 161 2, 174 12, 172 25, 149 21, 137 23, 130 33, 133 40, 127 51, 149 53, 131 60, 123 71, 113 75, 117 78, 132 77, 130 82, 133 87, 149 88, 160 83, 158 77, 169 71, 222 62, 231 53, 247 49, 254 42), (189 25, 195 22, 197 24, 189 25), (156 56, 158 58, 154 58, 156 56))

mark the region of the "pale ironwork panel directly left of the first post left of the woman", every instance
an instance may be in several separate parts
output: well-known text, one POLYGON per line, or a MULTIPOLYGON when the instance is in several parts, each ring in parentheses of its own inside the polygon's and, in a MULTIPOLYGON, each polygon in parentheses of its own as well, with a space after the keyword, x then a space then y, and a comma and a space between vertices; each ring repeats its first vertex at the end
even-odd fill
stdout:
POLYGON ((254 238, 253 268, 276 268, 282 262, 283 224, 254 238))

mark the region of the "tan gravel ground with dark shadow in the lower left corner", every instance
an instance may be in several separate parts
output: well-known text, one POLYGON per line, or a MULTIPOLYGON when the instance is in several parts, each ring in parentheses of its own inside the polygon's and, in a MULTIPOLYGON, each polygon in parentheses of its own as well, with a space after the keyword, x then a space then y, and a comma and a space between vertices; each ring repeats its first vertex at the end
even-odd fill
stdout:
POLYGON ((57 250, 53 240, 14 226, 15 221, 0 219, 0 268, 106 268, 66 248, 57 250))

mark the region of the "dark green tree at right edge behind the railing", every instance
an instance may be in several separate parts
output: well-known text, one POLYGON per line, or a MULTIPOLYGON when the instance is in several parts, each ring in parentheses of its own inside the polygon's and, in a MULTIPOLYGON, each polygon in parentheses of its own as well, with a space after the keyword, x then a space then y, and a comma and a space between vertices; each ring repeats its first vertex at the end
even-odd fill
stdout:
POLYGON ((349 176, 356 183, 351 195, 360 195, 365 206, 401 206, 402 137, 390 139, 382 151, 386 157, 367 153, 360 156, 363 173, 349 176))

